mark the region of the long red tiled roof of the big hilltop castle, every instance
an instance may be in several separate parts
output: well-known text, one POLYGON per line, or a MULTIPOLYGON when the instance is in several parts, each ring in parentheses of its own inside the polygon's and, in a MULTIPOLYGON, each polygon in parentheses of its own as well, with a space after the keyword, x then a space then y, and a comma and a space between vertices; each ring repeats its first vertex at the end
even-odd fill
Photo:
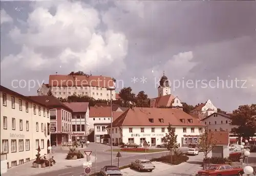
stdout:
POLYGON ((114 86, 111 77, 82 75, 50 75, 49 86, 114 86))

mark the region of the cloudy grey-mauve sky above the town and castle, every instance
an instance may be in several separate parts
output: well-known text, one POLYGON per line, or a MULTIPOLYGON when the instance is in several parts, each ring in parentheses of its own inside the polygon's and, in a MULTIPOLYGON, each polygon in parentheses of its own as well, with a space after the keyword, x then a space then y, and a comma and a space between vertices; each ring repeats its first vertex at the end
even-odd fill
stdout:
POLYGON ((1 85, 36 95, 72 71, 150 98, 164 73, 188 104, 256 103, 256 2, 1 1, 1 85))

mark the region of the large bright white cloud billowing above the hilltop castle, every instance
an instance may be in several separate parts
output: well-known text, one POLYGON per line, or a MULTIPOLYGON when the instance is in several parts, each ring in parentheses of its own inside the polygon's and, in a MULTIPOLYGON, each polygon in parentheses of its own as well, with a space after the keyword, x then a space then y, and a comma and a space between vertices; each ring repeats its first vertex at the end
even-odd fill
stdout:
POLYGON ((125 68, 127 39, 124 34, 108 28, 99 31, 101 19, 95 8, 67 2, 41 7, 33 4, 32 7, 27 33, 17 27, 10 31, 12 40, 23 45, 22 51, 4 58, 1 68, 26 62, 21 65, 40 70, 58 63, 68 65, 69 71, 112 70, 116 75, 125 68), (49 12, 51 7, 56 7, 55 15, 49 12), (118 67, 111 69, 113 64, 118 67))

